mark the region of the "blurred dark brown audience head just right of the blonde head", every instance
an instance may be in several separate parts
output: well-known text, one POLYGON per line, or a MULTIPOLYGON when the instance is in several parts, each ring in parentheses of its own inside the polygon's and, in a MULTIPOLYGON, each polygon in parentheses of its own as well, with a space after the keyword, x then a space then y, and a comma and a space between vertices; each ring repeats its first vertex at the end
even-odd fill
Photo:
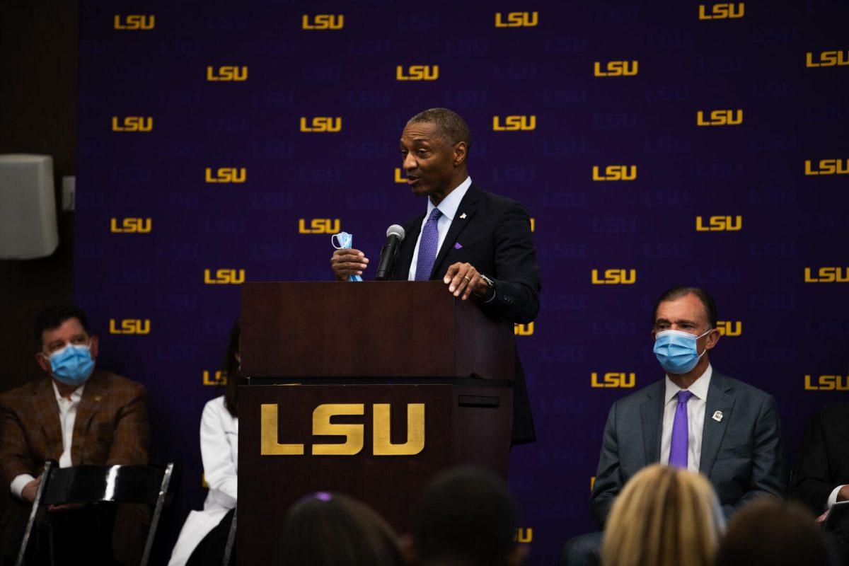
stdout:
POLYGON ((813 515, 773 499, 751 503, 734 515, 717 554, 717 566, 828 563, 829 552, 813 515))

